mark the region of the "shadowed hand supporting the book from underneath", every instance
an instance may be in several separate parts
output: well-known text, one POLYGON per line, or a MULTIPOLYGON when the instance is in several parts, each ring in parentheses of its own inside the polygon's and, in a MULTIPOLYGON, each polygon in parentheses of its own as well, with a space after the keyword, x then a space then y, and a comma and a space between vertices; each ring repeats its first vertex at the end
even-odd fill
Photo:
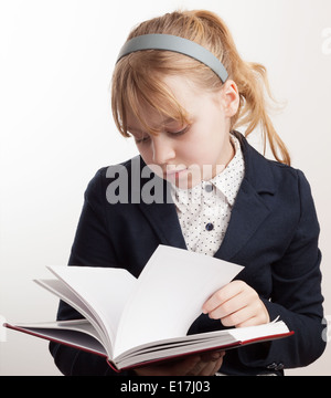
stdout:
POLYGON ((168 364, 135 369, 138 376, 214 376, 223 364, 225 352, 192 355, 168 364))

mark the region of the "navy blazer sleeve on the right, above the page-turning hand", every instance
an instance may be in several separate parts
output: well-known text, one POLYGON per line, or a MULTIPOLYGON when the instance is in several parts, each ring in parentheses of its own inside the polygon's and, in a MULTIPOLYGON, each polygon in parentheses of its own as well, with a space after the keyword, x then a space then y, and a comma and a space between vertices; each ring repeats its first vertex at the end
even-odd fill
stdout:
POLYGON ((270 343, 261 357, 256 355, 254 346, 241 348, 241 362, 247 366, 302 367, 320 357, 325 348, 318 248, 320 229, 310 186, 303 174, 297 172, 300 219, 284 256, 271 265, 273 295, 270 300, 263 298, 270 320, 280 316, 295 335, 270 343))

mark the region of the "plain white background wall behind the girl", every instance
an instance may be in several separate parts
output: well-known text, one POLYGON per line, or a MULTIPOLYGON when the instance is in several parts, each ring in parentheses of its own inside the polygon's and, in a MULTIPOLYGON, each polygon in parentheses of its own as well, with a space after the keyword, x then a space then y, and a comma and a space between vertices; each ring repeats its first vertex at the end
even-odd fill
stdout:
MULTIPOLYGON (((329 0, 0 0, 1 321, 54 318, 56 298, 32 280, 67 263, 96 170, 137 151, 111 118, 117 53, 134 25, 180 7, 217 12, 243 57, 268 70, 285 105, 271 117, 312 187, 331 320, 329 0)), ((0 375, 60 374, 46 342, 3 328, 0 341, 0 375)), ((330 347, 287 374, 330 375, 330 347)))

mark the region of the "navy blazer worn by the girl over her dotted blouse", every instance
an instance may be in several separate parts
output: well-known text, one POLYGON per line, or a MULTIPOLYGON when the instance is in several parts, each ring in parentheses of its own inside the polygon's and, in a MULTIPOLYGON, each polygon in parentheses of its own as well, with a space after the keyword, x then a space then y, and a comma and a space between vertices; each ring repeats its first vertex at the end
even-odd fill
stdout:
MULTIPOLYGON (((221 371, 282 374, 284 368, 309 365, 325 347, 319 223, 303 174, 265 159, 239 133, 234 134, 242 145, 245 177, 215 256, 244 265, 236 279, 254 287, 270 320, 279 316, 295 335, 228 350, 221 371)), ((148 179, 137 177, 134 164, 137 161, 129 160, 122 166, 129 180, 135 174, 142 187, 148 179)), ((140 167, 143 166, 141 160, 140 167)), ((126 268, 138 276, 159 244, 186 248, 167 181, 162 181, 162 203, 130 202, 137 192, 129 187, 128 203, 110 205, 106 193, 115 177, 109 175, 111 169, 103 168, 88 185, 70 264, 126 268)), ((61 303, 57 317, 76 318, 79 314, 61 303)), ((201 315, 189 333, 222 327, 220 321, 201 315)), ((54 343, 50 349, 65 375, 115 375, 102 357, 54 343)))

